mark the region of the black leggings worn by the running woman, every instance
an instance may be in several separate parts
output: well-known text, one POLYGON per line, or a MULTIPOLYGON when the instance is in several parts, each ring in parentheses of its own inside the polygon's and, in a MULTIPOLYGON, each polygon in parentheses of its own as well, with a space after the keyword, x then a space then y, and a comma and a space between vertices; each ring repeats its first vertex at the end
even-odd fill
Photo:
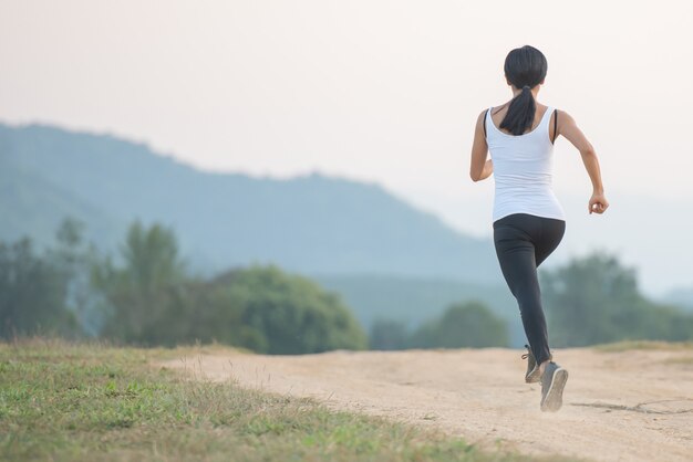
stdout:
POLYGON ((515 213, 494 222, 494 244, 505 281, 519 305, 531 353, 541 364, 551 357, 541 308, 537 267, 556 250, 566 222, 515 213))

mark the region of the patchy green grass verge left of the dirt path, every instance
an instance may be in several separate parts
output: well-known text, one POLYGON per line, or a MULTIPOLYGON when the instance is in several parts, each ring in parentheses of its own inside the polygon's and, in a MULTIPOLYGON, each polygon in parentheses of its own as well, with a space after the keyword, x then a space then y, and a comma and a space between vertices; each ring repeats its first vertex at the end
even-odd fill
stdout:
POLYGON ((190 380, 176 350, 0 344, 0 461, 567 461, 190 380))

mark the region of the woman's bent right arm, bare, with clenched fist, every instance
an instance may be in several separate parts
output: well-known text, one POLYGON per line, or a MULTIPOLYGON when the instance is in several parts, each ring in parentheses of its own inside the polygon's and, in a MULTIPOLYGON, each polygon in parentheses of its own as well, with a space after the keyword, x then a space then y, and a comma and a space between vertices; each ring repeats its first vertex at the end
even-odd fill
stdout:
POLYGON ((604 196, 604 187, 601 182, 601 169, 594 148, 587 140, 585 134, 578 128, 575 119, 566 112, 558 112, 558 134, 568 139, 582 156, 582 164, 592 181, 592 197, 589 201, 589 212, 603 213, 609 208, 609 201, 604 196))

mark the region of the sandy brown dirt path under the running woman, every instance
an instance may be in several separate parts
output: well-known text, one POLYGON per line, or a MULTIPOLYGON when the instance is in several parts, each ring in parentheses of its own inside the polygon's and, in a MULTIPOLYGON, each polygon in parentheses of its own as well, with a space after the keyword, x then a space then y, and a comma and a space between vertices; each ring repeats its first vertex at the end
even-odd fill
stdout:
POLYGON ((434 427, 469 442, 597 461, 693 461, 693 350, 556 350, 563 408, 539 411, 521 351, 203 354, 168 367, 434 427))

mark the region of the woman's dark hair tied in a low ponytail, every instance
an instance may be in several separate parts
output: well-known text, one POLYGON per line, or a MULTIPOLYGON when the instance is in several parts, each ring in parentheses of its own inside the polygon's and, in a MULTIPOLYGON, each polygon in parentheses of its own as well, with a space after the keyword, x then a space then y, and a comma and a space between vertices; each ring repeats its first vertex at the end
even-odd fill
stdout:
POLYGON ((510 101, 500 128, 513 135, 521 135, 531 128, 537 111, 531 88, 544 81, 547 69, 546 56, 534 46, 525 45, 508 53, 504 65, 505 76, 521 93, 510 101))

